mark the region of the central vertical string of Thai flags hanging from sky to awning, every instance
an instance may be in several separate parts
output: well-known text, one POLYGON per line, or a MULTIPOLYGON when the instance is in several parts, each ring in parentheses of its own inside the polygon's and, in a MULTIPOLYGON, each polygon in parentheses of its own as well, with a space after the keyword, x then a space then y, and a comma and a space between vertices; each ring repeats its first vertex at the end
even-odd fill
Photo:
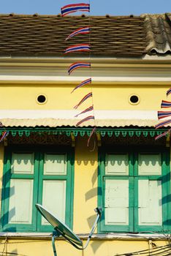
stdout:
MULTIPOLYGON (((69 15, 70 13, 80 12, 80 11, 81 12, 90 12, 90 3, 89 4, 86 4, 86 3, 68 4, 68 5, 65 5, 64 7, 61 7, 62 17, 69 15)), ((75 37, 79 34, 90 34, 90 33, 91 33, 91 26, 85 26, 83 28, 76 29, 75 31, 72 31, 72 33, 69 34, 69 36, 66 37, 65 40, 67 41, 69 39, 72 39, 72 37, 75 37)), ((73 52, 89 52, 90 53, 91 52, 90 37, 89 37, 89 44, 82 43, 82 44, 72 45, 64 50, 64 54, 73 53, 73 52)), ((91 59, 91 56, 90 56, 90 59, 91 59)), ((75 69, 80 69, 80 68, 91 68, 91 62, 81 62, 80 61, 80 62, 75 62, 75 63, 71 64, 68 68, 68 74, 71 75, 71 73, 74 72, 75 69)), ((91 83, 91 78, 83 80, 81 83, 79 83, 75 87, 75 89, 72 90, 71 93, 73 93, 75 90, 80 89, 81 87, 86 86, 90 83, 91 83)), ((92 89, 91 89, 91 92, 86 94, 86 96, 84 96, 83 99, 81 99, 80 102, 78 102, 74 108, 77 109, 80 105, 82 105, 83 102, 86 101, 86 99, 88 99, 90 97, 93 97, 92 89)), ((92 105, 90 107, 86 108, 85 110, 81 111, 80 113, 78 113, 75 117, 80 116, 85 113, 89 113, 91 111, 94 111, 93 99, 92 99, 92 105)), ((80 121, 77 122, 76 126, 78 127, 80 124, 83 124, 84 122, 89 121, 91 119, 95 119, 94 114, 92 114, 90 116, 86 116, 86 118, 81 119, 80 121)), ((93 135, 95 129, 96 129, 96 127, 94 127, 94 129, 92 130, 91 135, 93 135)), ((88 139, 88 144, 89 144, 91 135, 88 139)))

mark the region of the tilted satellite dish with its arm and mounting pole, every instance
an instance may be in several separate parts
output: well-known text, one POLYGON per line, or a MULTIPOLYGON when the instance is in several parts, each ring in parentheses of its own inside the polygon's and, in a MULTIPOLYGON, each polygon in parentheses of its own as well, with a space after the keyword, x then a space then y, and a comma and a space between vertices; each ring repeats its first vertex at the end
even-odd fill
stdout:
POLYGON ((83 246, 83 242, 80 240, 80 238, 64 223, 62 223, 60 220, 58 220, 56 217, 53 216, 47 209, 45 209, 43 206, 39 205, 38 203, 36 204, 37 210, 42 214, 45 219, 47 219, 47 222, 50 223, 54 227, 54 230, 57 231, 55 235, 52 237, 52 244, 53 244, 53 253, 54 256, 56 255, 56 246, 55 246, 55 238, 58 236, 63 236, 67 241, 69 241, 70 244, 75 246, 77 249, 83 250, 86 249, 88 246, 88 243, 91 239, 91 236, 94 233, 94 230, 96 228, 97 223, 99 222, 99 219, 102 214, 102 208, 96 208, 95 211, 97 213, 96 220, 94 222, 93 227, 91 228, 91 233, 88 236, 88 240, 86 242, 86 245, 83 246))

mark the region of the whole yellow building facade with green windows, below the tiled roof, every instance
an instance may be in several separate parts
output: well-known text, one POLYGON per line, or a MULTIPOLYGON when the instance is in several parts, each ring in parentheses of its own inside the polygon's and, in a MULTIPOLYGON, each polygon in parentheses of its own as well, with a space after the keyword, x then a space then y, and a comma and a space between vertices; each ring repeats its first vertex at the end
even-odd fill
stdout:
POLYGON ((94 56, 91 74, 68 76, 80 60, 88 58, 1 56, 1 132, 9 135, 0 146, 0 252, 53 255, 40 203, 83 244, 102 207, 88 247, 59 237, 58 255, 170 255, 170 135, 155 140, 168 127, 154 127, 161 100, 170 100, 170 55, 94 56), (88 75, 91 86, 71 94, 88 75), (92 103, 95 119, 77 127, 75 115, 92 103))

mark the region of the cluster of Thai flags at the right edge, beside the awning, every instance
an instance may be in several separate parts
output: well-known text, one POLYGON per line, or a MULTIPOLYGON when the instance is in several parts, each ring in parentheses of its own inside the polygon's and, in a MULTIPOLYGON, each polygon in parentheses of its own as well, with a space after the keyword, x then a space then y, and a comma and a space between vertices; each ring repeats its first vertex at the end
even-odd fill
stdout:
MULTIPOLYGON (((169 90, 167 90, 167 97, 171 94, 171 88, 169 90)), ((166 100, 162 100, 161 101, 161 108, 171 108, 171 102, 168 102, 166 100)), ((162 119, 162 118, 167 118, 171 116, 171 111, 158 111, 158 119, 162 119)), ((164 127, 164 125, 170 124, 171 123, 171 119, 167 119, 164 121, 161 121, 159 124, 155 125, 156 129, 159 129, 161 127, 164 127)), ((166 132, 161 133, 161 135, 156 136, 155 140, 158 140, 159 138, 164 137, 165 135, 170 134, 171 132, 171 128, 168 129, 166 132)))

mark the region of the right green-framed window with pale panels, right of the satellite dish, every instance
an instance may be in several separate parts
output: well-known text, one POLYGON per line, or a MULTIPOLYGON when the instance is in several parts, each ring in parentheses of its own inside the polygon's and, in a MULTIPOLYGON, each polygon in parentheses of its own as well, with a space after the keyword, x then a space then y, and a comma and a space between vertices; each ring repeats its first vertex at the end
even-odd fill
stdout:
POLYGON ((100 232, 171 229, 170 152, 118 149, 99 154, 100 232))

